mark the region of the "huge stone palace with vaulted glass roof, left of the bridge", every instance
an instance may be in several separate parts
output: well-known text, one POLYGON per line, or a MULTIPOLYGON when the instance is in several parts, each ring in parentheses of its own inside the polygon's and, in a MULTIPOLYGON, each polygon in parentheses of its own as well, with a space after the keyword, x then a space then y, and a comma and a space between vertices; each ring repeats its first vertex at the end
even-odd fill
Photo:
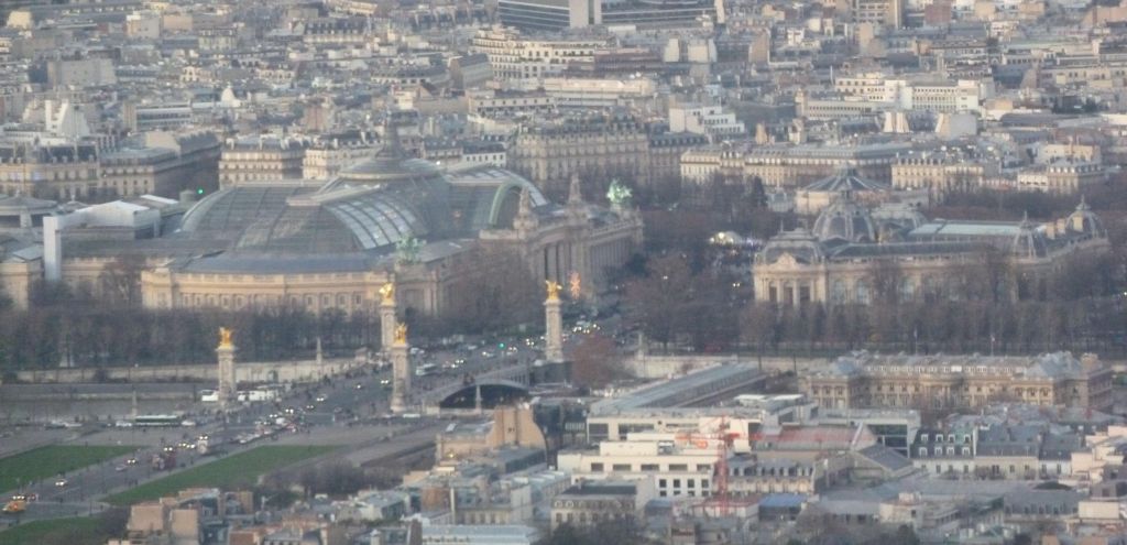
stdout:
MULTIPOLYGON (((527 179, 488 165, 443 169, 393 140, 329 182, 248 181, 185 205, 145 195, 92 206, 0 201, 0 279, 27 305, 37 279, 98 295, 106 278, 135 282, 144 307, 320 313, 374 310, 394 282, 401 309, 437 314, 459 280, 494 249, 538 278, 576 273, 597 292, 605 271, 641 243, 628 202, 585 202, 578 181, 557 204, 527 179), (34 236, 42 230, 42 243, 34 236)), ((480 273, 480 271, 477 271, 480 273)))

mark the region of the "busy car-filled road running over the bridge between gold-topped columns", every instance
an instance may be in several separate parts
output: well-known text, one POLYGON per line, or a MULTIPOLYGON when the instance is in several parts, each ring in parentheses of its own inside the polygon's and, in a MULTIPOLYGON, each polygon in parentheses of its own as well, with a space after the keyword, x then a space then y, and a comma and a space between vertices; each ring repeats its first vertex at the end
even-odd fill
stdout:
MULTIPOLYGON (((429 362, 449 368, 458 362, 456 369, 446 369, 441 375, 412 377, 414 388, 425 392, 461 381, 465 373, 476 375, 507 364, 526 364, 539 357, 536 348, 523 340, 509 340, 504 344, 504 349, 490 344, 488 349, 477 346, 472 351, 440 350, 412 354, 412 364, 416 367, 429 362), (514 345, 517 343, 518 345, 514 345)), ((106 495, 169 473, 152 469, 149 464, 151 457, 163 447, 178 448, 177 469, 184 469, 215 457, 204 457, 194 449, 179 448, 181 441, 194 443, 198 436, 207 434, 212 438, 212 443, 219 439, 222 445, 220 448, 225 450, 224 456, 236 454, 255 448, 264 441, 273 442, 260 439, 240 445, 238 438, 258 431, 261 422, 277 416, 302 422, 296 433, 278 434, 278 443, 348 445, 352 448, 343 455, 356 463, 387 456, 393 450, 392 447, 401 448, 407 442, 433 438, 442 425, 432 419, 388 417, 390 386, 382 383, 390 379, 390 373, 389 368, 363 369, 347 376, 329 377, 317 384, 298 386, 282 399, 249 404, 225 416, 213 410, 199 408, 192 414, 198 423, 196 428, 106 428, 83 436, 73 430, 66 430, 66 433, 52 430, 53 434, 42 439, 63 440, 72 445, 135 445, 139 448, 128 455, 25 486, 21 492, 35 493, 38 500, 29 503, 27 511, 18 519, 27 521, 100 511, 105 506, 99 500, 106 495), (300 419, 296 417, 299 415, 300 419), (130 463, 132 460, 135 463, 130 463), (56 485, 59 480, 65 480, 65 485, 56 485)), ((36 439, 41 439, 38 434, 36 439)), ((12 493, 15 491, 9 491, 5 496, 12 493)), ((0 516, 0 526, 16 519, 14 516, 0 516)))

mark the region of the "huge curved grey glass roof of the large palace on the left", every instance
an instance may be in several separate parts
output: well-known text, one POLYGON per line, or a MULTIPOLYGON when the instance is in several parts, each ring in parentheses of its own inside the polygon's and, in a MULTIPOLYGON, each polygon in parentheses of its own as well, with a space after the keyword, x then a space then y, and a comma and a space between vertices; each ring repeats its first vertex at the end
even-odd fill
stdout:
POLYGON ((434 176, 391 184, 242 185, 196 203, 177 236, 239 253, 383 254, 406 238, 436 241, 512 228, 522 190, 531 192, 536 213, 553 213, 531 182, 494 167, 450 176, 435 169, 434 176))

